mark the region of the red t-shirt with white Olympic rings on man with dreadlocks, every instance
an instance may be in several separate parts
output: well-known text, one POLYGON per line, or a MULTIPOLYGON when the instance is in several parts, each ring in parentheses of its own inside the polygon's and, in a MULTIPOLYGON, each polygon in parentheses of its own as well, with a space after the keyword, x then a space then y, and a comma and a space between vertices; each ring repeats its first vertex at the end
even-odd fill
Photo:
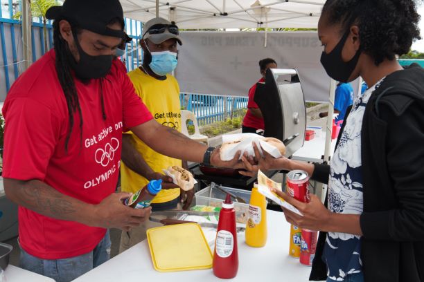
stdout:
MULTIPOLYGON (((134 92, 122 63, 114 60, 105 79, 82 84, 75 79, 82 111, 78 111, 68 151, 67 102, 51 50, 22 74, 3 106, 6 131, 3 177, 41 180, 85 203, 98 204, 114 193, 121 159, 123 129, 147 122, 152 115, 134 92), (106 120, 103 120, 100 98, 106 120)), ((19 207, 19 242, 41 259, 64 259, 94 250, 106 229, 42 216, 19 207)))

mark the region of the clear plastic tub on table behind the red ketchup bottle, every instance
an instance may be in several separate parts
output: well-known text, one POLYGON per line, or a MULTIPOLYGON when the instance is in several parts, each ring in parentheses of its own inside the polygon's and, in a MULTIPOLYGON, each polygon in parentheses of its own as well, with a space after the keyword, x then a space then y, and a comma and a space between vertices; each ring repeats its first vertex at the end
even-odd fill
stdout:
MULTIPOLYGON (((237 222, 247 223, 247 215, 249 213, 248 203, 250 202, 251 191, 229 188, 229 187, 222 187, 222 186, 220 186, 220 188, 224 189, 224 191, 229 191, 231 194, 239 196, 240 198, 245 200, 246 204, 236 203, 236 202, 233 202, 233 204, 234 204, 234 209, 236 209, 236 212, 242 212, 242 216, 238 216, 236 218, 237 222)), ((195 194, 195 205, 221 207, 222 202, 224 202, 226 196, 227 196, 226 193, 214 187, 211 188, 211 186, 209 186, 209 187, 206 187, 205 189, 198 191, 195 194)))

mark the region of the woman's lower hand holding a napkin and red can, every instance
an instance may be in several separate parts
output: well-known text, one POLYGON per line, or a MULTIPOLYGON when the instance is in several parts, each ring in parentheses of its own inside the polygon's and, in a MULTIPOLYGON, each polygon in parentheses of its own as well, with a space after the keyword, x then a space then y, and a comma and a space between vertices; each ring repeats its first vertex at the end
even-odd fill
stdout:
POLYGON ((321 200, 319 200, 317 196, 310 194, 310 203, 302 203, 282 191, 276 189, 273 191, 286 202, 299 209, 299 212, 303 214, 303 216, 299 216, 299 214, 295 214, 281 207, 284 212, 285 220, 287 220, 288 223, 310 230, 334 231, 328 230, 333 213, 321 203, 321 200))

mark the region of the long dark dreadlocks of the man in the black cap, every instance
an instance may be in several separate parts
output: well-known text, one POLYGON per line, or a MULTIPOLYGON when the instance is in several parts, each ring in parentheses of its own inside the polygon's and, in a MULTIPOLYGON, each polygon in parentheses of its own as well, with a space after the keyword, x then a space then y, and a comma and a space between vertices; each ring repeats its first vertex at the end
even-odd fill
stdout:
MULTIPOLYGON (((73 77, 71 74, 71 66, 68 62, 69 56, 71 56, 71 51, 69 50, 67 41, 65 41, 62 38, 62 35, 60 35, 59 23, 59 19, 53 22, 53 45, 55 48, 56 55, 56 72, 58 73, 60 86, 62 86, 65 99, 67 100, 69 113, 69 131, 65 140, 65 149, 68 150, 69 138, 71 138, 74 123, 73 114, 76 111, 78 111, 78 115, 80 116, 80 140, 82 142, 82 112, 80 107, 80 101, 78 100, 78 93, 76 90, 75 82, 73 81, 73 77)), ((80 28, 78 28, 78 26, 72 26, 72 32, 76 32, 76 34, 78 34, 80 31, 81 30, 80 28)))

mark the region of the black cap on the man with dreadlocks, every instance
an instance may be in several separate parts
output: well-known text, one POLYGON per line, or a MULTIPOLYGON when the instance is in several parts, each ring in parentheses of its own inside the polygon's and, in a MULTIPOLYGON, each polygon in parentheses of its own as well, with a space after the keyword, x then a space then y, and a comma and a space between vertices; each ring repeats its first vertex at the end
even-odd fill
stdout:
POLYGON ((124 26, 123 10, 118 0, 66 0, 63 6, 53 6, 46 12, 47 19, 67 19, 80 28, 99 35, 124 38, 123 30, 107 28, 118 18, 124 26))

